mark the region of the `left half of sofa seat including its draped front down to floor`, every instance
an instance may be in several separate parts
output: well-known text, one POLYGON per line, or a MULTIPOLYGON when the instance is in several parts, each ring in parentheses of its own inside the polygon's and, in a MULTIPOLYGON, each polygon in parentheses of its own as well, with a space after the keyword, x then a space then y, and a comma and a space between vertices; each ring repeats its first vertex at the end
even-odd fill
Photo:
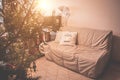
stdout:
POLYGON ((48 42, 47 46, 44 47, 48 49, 46 49, 48 52, 45 54, 47 59, 78 72, 77 46, 63 46, 55 41, 48 42))

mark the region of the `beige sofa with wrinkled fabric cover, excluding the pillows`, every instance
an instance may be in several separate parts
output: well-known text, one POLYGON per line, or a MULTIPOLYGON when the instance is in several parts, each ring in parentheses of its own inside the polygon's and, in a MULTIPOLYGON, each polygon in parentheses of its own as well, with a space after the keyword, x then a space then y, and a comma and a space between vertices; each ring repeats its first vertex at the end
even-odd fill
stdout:
POLYGON ((111 57, 112 31, 77 27, 60 31, 77 32, 76 43, 69 46, 49 41, 43 45, 46 59, 84 76, 99 77, 111 57))

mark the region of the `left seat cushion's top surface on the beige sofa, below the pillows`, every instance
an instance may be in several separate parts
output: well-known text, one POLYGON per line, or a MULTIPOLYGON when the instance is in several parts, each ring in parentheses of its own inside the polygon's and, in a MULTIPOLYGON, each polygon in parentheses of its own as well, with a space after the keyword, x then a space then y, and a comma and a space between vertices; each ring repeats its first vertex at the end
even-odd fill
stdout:
POLYGON ((52 54, 65 60, 73 60, 75 58, 74 54, 76 53, 77 46, 64 46, 59 45, 59 43, 55 41, 51 41, 48 43, 52 54))

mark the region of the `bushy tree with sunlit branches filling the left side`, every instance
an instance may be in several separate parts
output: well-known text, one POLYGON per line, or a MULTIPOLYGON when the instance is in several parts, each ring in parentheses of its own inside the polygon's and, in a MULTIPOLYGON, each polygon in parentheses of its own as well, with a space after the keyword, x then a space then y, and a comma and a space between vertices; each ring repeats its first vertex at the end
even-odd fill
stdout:
MULTIPOLYGON (((40 56, 38 45, 42 41, 43 16, 37 10, 37 0, 3 0, 1 16, 4 27, 0 29, 0 61, 15 70, 17 77, 40 56)), ((1 25, 2 26, 2 25, 1 25)), ((35 71, 35 63, 34 63, 35 71)))

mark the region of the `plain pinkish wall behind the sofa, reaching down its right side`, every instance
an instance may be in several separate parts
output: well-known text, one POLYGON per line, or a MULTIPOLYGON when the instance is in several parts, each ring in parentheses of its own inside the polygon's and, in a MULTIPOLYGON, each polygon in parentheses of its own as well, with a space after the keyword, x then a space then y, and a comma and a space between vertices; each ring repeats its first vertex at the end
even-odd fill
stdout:
POLYGON ((53 0, 70 8, 68 26, 113 31, 113 59, 120 62, 120 0, 53 0))

